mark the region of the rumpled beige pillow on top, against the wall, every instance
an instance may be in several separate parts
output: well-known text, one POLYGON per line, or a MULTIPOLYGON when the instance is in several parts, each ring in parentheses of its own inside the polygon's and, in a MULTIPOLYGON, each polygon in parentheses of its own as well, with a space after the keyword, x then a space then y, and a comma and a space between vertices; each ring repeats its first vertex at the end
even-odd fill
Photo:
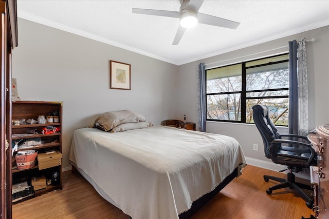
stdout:
POLYGON ((123 123, 145 122, 145 117, 131 110, 121 110, 114 112, 104 112, 97 118, 94 127, 103 131, 110 131, 114 127, 123 123))

